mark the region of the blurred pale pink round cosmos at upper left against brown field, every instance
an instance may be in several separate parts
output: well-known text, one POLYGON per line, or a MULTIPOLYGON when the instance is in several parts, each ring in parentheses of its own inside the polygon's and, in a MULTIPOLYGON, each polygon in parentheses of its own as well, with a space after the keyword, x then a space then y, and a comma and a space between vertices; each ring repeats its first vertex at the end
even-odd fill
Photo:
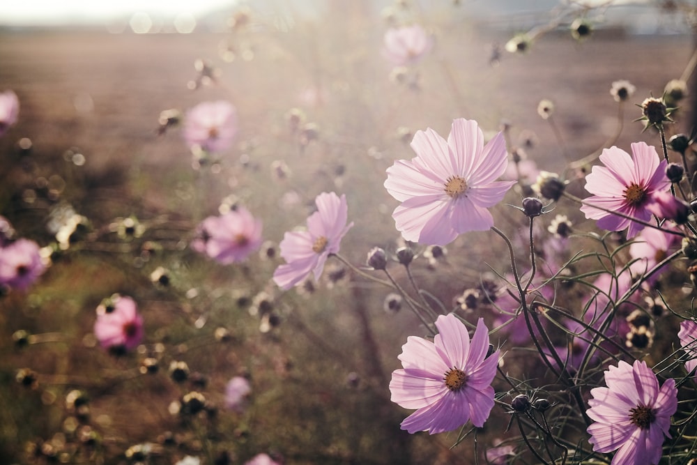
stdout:
POLYGON ((184 138, 206 152, 224 151, 237 133, 237 111, 230 102, 201 102, 186 113, 184 138))

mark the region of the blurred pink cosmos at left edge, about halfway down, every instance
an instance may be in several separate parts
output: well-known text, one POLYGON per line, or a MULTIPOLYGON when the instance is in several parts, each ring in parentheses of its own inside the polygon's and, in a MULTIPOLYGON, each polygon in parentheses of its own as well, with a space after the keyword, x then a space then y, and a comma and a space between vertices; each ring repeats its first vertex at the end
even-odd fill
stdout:
POLYGON ((17 239, 0 247, 0 285, 24 290, 44 272, 39 246, 29 239, 17 239))

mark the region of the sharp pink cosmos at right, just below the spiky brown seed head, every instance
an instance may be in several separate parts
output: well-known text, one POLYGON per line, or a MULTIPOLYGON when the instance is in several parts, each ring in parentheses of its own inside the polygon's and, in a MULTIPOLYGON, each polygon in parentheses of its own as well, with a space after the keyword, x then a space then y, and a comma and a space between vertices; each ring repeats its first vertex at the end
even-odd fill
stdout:
POLYGON ((621 148, 604 149, 600 161, 605 167, 595 166, 585 176, 585 190, 594 195, 585 199, 581 206, 585 218, 598 220, 599 228, 608 231, 627 229, 627 238, 636 236, 644 225, 608 211, 649 221, 651 212, 647 206, 654 193, 668 190, 671 185, 666 177, 668 162, 659 160, 655 148, 636 142, 631 144, 631 153, 633 157, 630 158, 629 153, 621 148))

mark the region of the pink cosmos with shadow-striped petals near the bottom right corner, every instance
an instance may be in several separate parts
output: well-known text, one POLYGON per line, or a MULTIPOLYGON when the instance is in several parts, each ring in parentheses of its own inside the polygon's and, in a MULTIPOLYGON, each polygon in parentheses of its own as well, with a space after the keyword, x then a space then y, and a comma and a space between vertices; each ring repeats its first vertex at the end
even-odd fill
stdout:
POLYGON ((655 465, 663 453, 664 436, 671 437, 671 416, 677 410, 675 380, 659 389, 646 363, 620 361, 605 372, 607 387, 593 388, 586 411, 595 423, 587 429, 595 452, 615 452, 612 465, 655 465))

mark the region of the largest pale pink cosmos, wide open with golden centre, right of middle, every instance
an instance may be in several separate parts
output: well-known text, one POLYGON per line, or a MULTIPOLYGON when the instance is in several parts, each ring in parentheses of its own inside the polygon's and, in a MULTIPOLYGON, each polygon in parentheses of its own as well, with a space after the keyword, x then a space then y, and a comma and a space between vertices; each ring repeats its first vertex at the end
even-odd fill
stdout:
POLYGON ((418 156, 388 168, 385 188, 401 201, 397 229, 407 241, 446 245, 466 231, 493 226, 487 208, 498 204, 515 181, 494 181, 508 155, 499 132, 487 146, 476 121, 456 119, 447 141, 431 128, 414 135, 418 156))

